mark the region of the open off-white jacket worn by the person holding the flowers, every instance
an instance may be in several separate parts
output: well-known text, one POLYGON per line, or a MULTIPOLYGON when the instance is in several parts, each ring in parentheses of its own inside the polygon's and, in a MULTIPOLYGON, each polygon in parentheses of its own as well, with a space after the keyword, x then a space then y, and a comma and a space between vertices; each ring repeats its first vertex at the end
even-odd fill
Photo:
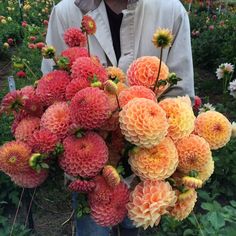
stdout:
MULTIPOLYGON (((123 10, 120 30, 121 57, 117 62, 112 45, 112 37, 106 8, 103 1, 62 0, 50 16, 46 42, 54 45, 59 54, 66 48, 63 33, 69 27, 80 27, 82 12, 92 16, 97 24, 97 32, 89 38, 90 49, 104 66, 119 66, 124 71, 138 57, 158 56, 160 50, 151 42, 158 27, 170 29, 175 38, 170 49, 164 49, 163 60, 171 72, 175 72, 182 81, 168 92, 168 96, 194 96, 193 65, 188 14, 179 0, 130 0, 123 10), (86 1, 91 4, 86 6, 86 1), (92 3, 91 3, 92 2, 92 3), (79 7, 80 8, 79 8, 79 7), (86 8, 88 7, 88 8, 86 8)), ((53 62, 43 60, 42 72, 52 70, 53 62)))

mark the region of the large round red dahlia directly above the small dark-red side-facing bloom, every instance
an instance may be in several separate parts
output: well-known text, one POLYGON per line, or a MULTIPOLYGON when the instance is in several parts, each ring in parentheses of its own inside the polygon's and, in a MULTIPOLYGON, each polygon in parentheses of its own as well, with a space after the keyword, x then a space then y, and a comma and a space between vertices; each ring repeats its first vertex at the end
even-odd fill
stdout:
POLYGON ((96 176, 108 160, 105 141, 94 132, 81 138, 69 136, 63 141, 62 169, 69 175, 91 178, 96 176))

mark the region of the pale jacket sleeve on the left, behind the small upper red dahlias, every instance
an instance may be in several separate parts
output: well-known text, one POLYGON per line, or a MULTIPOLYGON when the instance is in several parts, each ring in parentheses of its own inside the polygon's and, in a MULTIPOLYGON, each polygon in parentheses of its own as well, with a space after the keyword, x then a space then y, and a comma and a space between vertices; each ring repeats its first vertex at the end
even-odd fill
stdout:
MULTIPOLYGON (((48 31, 46 36, 47 45, 52 45, 56 49, 56 54, 60 54, 66 48, 66 44, 63 40, 64 31, 68 28, 66 20, 60 14, 61 11, 58 6, 55 6, 50 15, 48 31)), ((41 71, 46 74, 53 69, 54 62, 52 59, 43 59, 41 65, 41 71)))

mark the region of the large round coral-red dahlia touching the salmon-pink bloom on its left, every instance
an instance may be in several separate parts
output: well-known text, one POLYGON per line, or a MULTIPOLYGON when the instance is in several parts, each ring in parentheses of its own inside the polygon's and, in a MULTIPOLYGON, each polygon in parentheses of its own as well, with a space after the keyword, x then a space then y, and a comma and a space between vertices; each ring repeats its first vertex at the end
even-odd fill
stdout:
POLYGON ((99 128, 110 115, 108 97, 98 88, 82 89, 71 100, 71 120, 81 128, 99 128))

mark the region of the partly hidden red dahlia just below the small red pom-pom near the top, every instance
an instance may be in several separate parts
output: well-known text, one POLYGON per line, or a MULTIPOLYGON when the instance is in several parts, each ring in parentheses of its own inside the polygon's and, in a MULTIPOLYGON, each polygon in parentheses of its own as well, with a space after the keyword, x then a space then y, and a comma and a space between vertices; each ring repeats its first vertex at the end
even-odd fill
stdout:
POLYGON ((68 58, 69 67, 73 65, 74 61, 76 61, 79 57, 88 57, 88 50, 86 48, 72 47, 67 48, 61 52, 63 57, 68 58))

